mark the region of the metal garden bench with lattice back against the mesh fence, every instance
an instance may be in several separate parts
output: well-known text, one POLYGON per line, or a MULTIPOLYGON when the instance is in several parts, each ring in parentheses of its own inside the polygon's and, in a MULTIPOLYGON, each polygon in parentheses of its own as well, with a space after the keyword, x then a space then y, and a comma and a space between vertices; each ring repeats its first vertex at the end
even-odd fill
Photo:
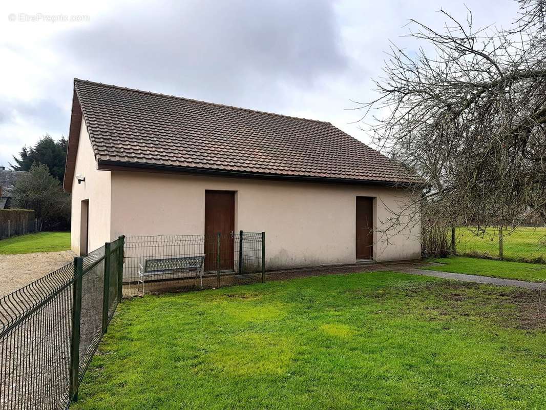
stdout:
POLYGON ((173 273, 180 273, 181 275, 176 279, 182 279, 193 277, 193 274, 191 273, 195 272, 195 279, 198 277, 200 278, 200 287, 203 289, 204 261, 205 255, 169 257, 165 259, 146 259, 144 262, 144 267, 139 263, 140 269, 138 271, 139 283, 142 284, 143 294, 145 278, 173 273))

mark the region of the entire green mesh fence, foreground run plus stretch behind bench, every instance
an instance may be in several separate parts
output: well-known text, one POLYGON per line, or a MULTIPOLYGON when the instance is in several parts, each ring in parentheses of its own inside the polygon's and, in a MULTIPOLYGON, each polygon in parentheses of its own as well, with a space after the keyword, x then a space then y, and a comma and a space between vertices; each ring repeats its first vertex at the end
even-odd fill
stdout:
MULTIPOLYGON (((192 255, 202 256, 206 287, 265 280, 263 232, 120 237, 0 298, 0 410, 68 408, 78 400, 122 294, 138 294, 140 267, 192 255)), ((193 285, 186 280, 192 272, 154 271, 147 289, 193 285)))

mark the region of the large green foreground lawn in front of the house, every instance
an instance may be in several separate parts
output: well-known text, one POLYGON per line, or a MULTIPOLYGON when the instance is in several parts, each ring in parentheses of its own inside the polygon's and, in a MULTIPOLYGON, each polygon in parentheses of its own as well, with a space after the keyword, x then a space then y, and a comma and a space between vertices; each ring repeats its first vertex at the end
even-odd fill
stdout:
POLYGON ((394 272, 124 301, 74 409, 542 409, 527 290, 394 272))

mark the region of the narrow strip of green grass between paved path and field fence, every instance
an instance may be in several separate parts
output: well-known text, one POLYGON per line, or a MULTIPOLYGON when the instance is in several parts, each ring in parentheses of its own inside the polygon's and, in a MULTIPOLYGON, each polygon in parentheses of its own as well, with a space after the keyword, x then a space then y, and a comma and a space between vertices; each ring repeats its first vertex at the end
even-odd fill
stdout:
POLYGON ((546 281, 546 265, 539 263, 495 261, 475 257, 450 256, 429 259, 431 262, 444 263, 444 266, 428 266, 431 271, 468 273, 471 275, 492 276, 495 278, 546 281))

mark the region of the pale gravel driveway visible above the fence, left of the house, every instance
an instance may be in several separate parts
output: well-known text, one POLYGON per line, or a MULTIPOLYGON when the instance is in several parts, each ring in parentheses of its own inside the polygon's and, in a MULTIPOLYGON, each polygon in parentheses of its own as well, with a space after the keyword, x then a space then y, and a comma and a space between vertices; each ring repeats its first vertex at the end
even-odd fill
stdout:
POLYGON ((0 255, 0 297, 66 265, 74 256, 72 250, 0 255))

